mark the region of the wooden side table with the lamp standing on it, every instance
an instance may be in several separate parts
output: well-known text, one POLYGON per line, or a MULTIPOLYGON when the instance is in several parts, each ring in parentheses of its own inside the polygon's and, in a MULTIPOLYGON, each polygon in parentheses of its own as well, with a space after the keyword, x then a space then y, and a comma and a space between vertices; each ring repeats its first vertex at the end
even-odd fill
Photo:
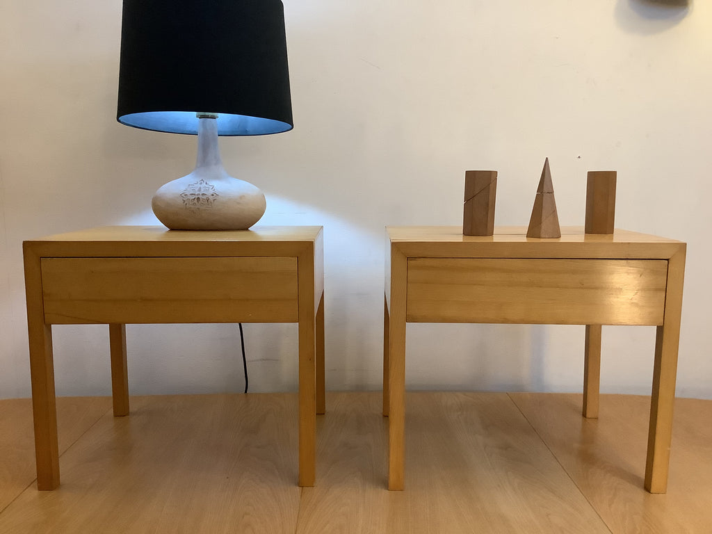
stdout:
POLYGON ((315 478, 324 400, 321 226, 108 226, 23 244, 37 487, 59 486, 51 325, 109 325, 115 416, 129 413, 125 325, 298 323, 300 486, 315 478))

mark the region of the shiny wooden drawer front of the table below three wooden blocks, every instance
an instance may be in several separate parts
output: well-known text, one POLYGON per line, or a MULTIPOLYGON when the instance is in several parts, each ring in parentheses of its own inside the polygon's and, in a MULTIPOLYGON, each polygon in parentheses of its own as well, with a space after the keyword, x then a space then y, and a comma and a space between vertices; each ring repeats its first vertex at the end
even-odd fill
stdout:
POLYGON ((407 321, 661 325, 667 261, 408 260, 407 321))

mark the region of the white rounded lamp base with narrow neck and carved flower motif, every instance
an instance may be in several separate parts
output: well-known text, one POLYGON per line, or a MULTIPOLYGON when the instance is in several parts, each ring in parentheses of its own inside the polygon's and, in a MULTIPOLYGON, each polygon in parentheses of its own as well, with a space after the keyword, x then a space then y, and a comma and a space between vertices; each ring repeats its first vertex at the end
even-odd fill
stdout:
POLYGON ((260 220, 267 204, 260 189, 225 172, 217 121, 202 117, 195 170, 160 187, 151 206, 172 230, 246 230, 260 220))

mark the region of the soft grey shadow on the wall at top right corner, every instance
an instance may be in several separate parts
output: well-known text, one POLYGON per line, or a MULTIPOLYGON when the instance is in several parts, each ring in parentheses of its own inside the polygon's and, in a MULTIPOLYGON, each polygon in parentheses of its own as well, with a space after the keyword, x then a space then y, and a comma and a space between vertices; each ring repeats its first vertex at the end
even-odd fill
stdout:
POLYGON ((630 33, 659 33, 680 23, 692 11, 692 0, 618 0, 615 17, 630 33))

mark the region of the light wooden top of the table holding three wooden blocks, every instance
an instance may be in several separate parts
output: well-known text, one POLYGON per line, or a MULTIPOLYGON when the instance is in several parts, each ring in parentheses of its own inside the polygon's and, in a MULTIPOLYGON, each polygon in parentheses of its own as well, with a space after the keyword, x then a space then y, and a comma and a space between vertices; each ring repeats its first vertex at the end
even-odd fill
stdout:
POLYGON ((493 236, 464 236, 461 226, 387 226, 387 239, 407 257, 670 258, 686 244, 628 230, 585 234, 562 226, 556 239, 530 238, 526 226, 498 226, 493 236))

